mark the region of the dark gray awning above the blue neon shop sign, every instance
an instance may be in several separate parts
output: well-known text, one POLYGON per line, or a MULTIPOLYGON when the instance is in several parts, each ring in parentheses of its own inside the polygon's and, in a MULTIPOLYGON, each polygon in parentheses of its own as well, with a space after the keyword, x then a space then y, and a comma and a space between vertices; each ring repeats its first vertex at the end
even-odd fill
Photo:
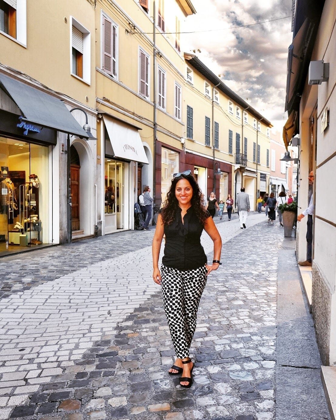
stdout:
POLYGON ((4 74, 0 74, 0 88, 18 105, 23 121, 88 138, 61 100, 4 74))

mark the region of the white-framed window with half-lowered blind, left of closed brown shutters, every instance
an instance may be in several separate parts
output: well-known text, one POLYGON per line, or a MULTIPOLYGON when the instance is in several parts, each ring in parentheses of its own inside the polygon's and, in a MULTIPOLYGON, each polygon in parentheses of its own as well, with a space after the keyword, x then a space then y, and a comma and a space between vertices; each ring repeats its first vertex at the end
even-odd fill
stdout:
POLYGON ((90 83, 91 34, 71 16, 71 74, 90 83))

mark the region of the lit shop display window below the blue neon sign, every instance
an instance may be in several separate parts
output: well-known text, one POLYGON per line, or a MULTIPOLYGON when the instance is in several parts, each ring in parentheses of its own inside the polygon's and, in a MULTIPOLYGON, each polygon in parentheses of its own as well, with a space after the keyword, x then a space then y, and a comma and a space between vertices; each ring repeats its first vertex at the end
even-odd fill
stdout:
POLYGON ((0 255, 49 243, 48 147, 0 136, 0 255))

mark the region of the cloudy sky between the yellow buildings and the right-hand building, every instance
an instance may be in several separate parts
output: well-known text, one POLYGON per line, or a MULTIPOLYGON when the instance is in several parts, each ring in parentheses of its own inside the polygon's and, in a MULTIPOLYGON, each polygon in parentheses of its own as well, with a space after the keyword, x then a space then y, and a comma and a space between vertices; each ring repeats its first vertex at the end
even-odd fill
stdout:
POLYGON ((184 34, 184 50, 195 49, 229 88, 282 131, 287 120, 291 18, 230 28, 291 16, 291 0, 192 0, 192 4, 197 14, 186 18, 184 30, 197 32, 184 34))

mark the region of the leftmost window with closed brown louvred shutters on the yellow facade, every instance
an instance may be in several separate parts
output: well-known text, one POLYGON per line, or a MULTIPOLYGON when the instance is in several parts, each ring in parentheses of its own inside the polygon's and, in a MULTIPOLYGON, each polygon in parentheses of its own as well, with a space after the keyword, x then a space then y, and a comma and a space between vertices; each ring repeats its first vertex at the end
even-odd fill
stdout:
POLYGON ((118 25, 102 14, 102 71, 117 78, 118 25))

